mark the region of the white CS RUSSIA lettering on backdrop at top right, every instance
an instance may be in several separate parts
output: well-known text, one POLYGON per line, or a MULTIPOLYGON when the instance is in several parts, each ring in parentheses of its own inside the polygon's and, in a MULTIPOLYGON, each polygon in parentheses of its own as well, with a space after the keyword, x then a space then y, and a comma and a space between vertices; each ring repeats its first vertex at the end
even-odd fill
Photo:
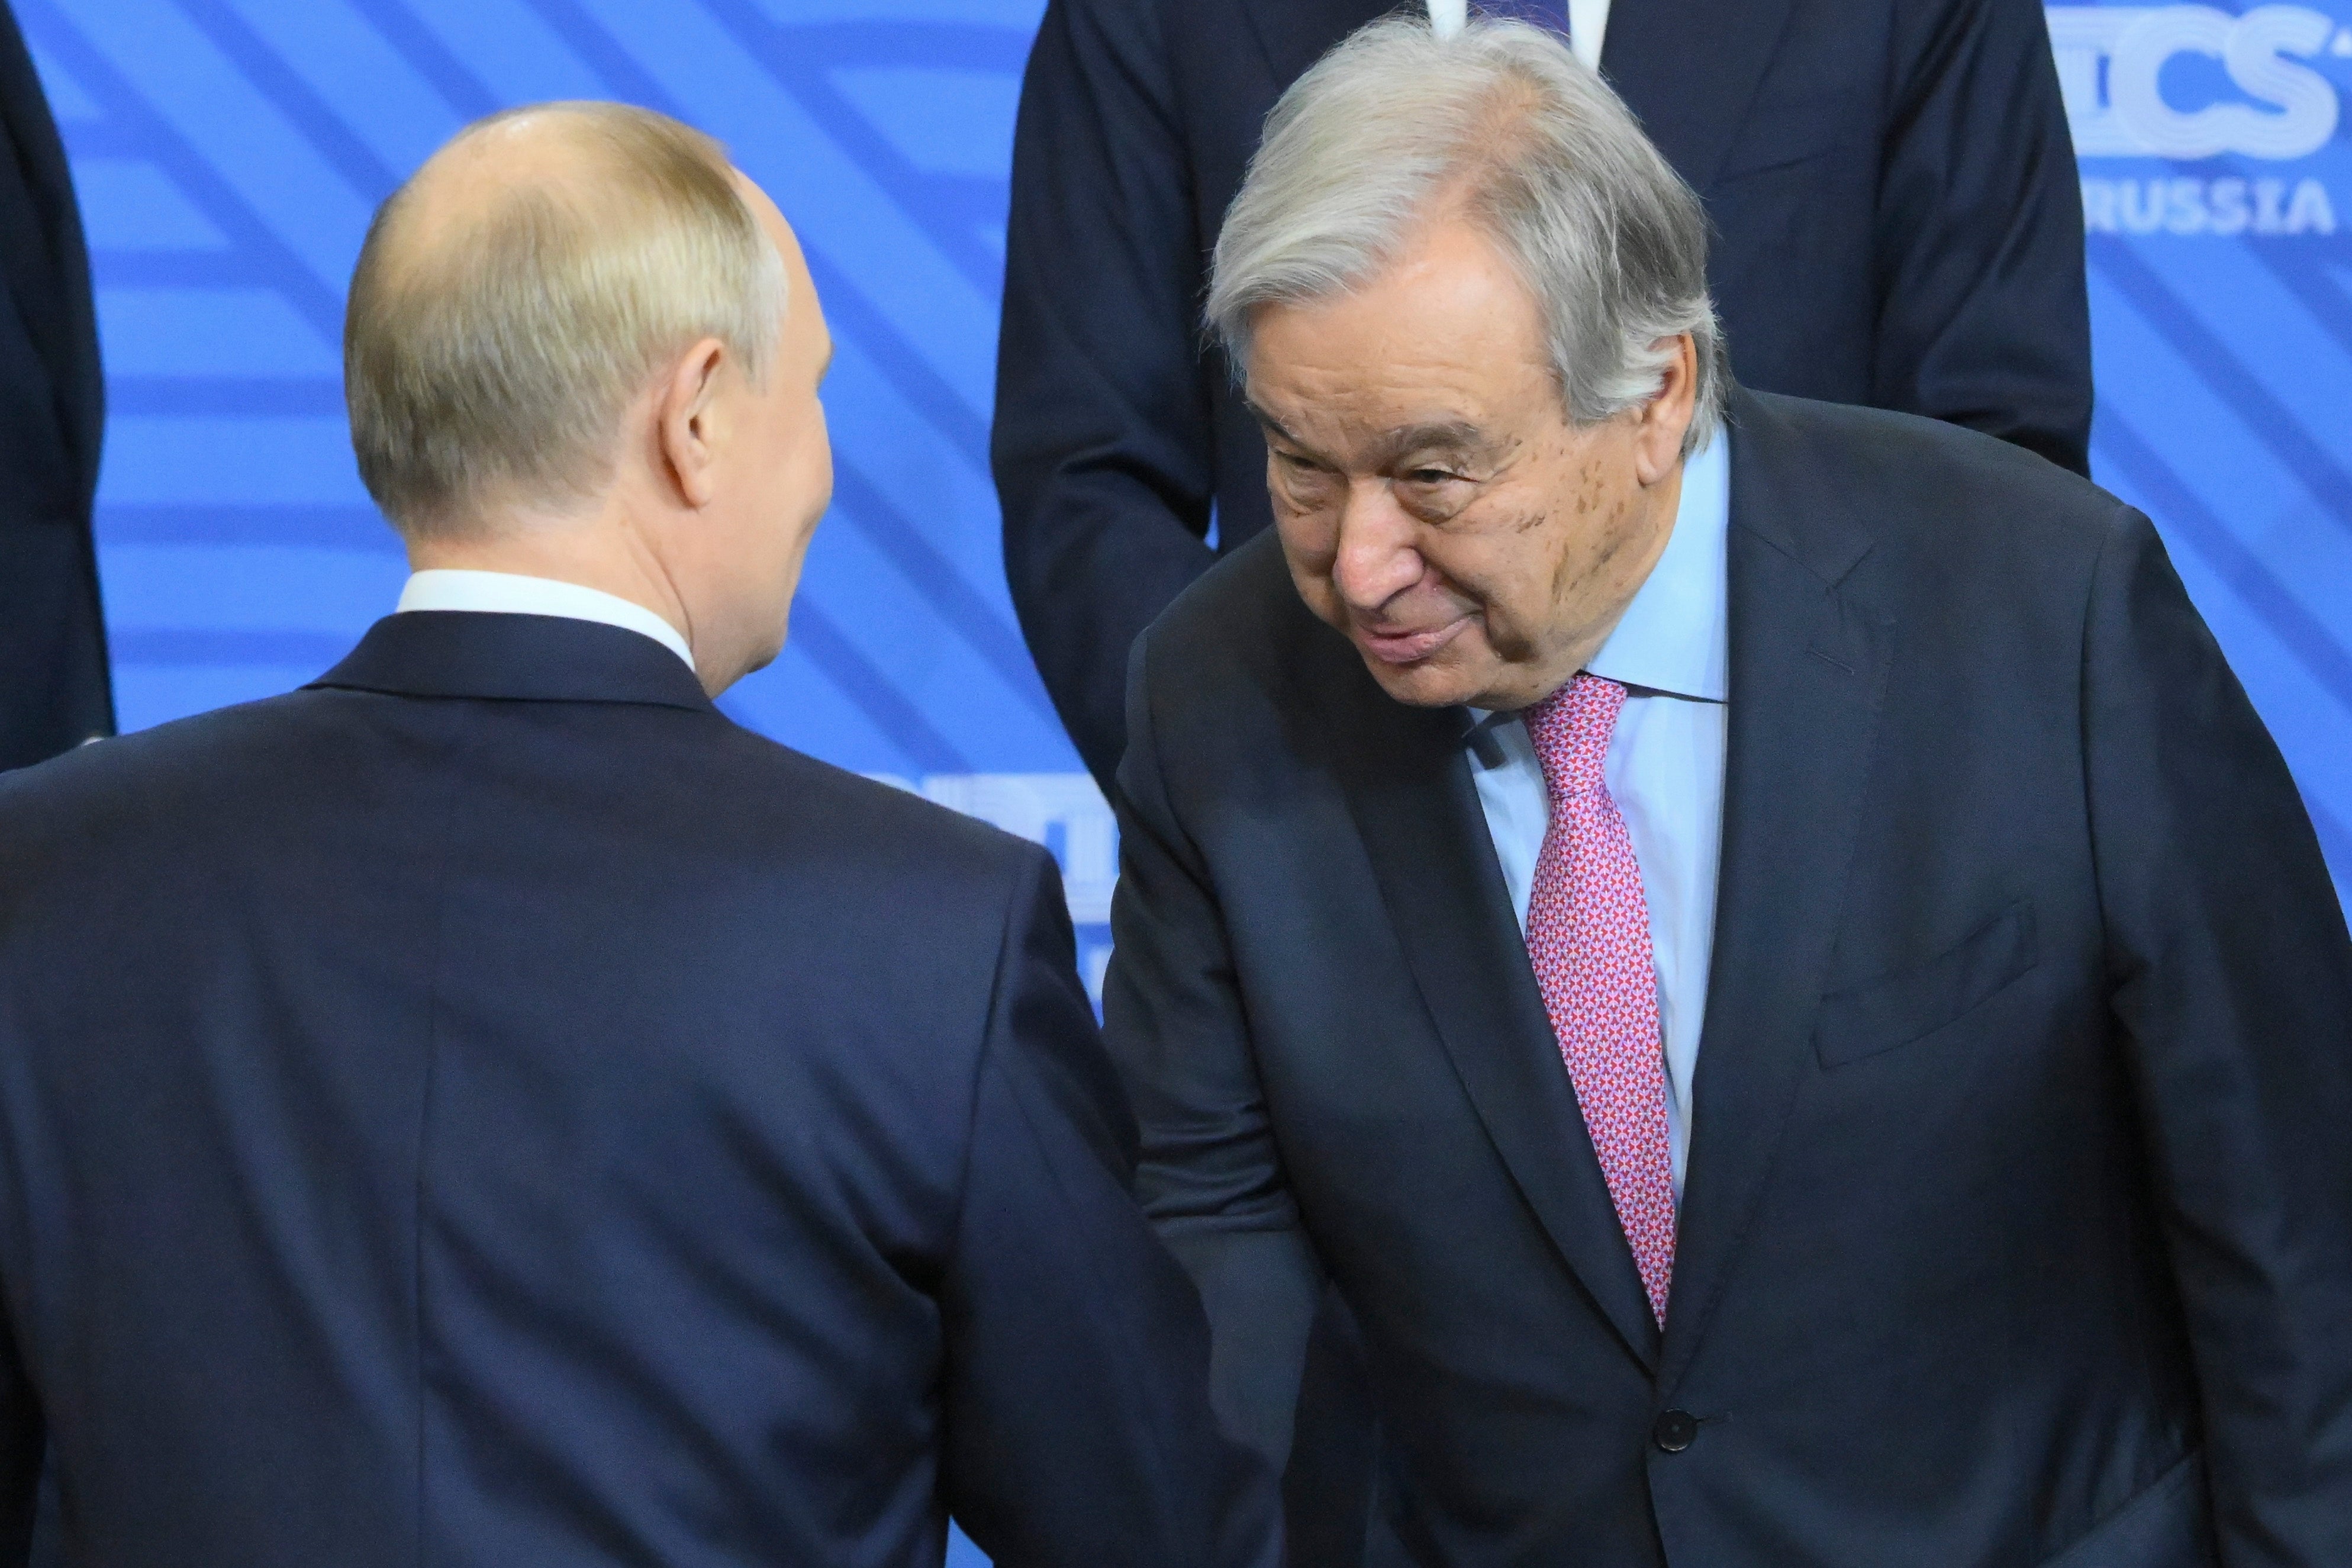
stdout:
MULTIPOLYGON (((2051 49, 2079 158, 2310 158, 2343 115, 2319 56, 2352 56, 2352 28, 2303 5, 2232 16, 2211 5, 2053 5, 2051 49), (2220 66, 2246 101, 2180 106, 2166 66, 2194 54, 2220 66)), ((2284 172, 2281 172, 2284 174, 2284 172)), ((2331 235, 2336 205, 2312 176, 2187 174, 2082 181, 2091 233, 2331 235)))

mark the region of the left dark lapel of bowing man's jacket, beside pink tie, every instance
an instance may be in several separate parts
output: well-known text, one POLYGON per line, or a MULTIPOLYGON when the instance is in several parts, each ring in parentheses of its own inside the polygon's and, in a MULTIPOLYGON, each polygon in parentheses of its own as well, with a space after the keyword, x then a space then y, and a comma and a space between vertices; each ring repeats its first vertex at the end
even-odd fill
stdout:
POLYGON ((1526 961, 1463 757, 1463 715, 1404 708, 1362 668, 1350 675, 1329 710, 1334 743, 1397 943, 1529 1208, 1649 1368, 1658 1326, 1526 961))

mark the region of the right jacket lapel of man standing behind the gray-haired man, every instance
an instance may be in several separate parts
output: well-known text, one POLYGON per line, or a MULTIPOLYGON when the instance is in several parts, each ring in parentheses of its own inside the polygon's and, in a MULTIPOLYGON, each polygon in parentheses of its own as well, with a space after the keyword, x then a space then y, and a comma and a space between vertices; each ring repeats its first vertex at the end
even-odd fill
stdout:
POLYGON ((1602 75, 1665 160, 1705 190, 1764 80, 1790 0, 1639 0, 1609 7, 1602 75), (1693 47, 1693 45, 1705 47, 1693 47))

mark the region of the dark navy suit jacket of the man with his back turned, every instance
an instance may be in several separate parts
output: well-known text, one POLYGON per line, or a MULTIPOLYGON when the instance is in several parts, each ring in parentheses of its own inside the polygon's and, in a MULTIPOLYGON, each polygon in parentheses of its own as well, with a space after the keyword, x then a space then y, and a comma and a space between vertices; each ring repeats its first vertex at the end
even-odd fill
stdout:
POLYGON ((1044 851, 635 632, 0 780, 0 1561, 1265 1568, 1044 851))

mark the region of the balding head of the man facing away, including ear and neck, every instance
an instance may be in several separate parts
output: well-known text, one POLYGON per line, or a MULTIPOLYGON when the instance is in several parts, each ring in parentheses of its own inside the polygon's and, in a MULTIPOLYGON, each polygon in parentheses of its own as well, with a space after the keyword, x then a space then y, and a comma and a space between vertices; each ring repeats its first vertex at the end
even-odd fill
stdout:
POLYGON ((833 496, 830 360, 767 193, 619 103, 459 134, 376 214, 343 329, 360 475, 419 571, 642 604, 710 693, 783 646, 833 496))

